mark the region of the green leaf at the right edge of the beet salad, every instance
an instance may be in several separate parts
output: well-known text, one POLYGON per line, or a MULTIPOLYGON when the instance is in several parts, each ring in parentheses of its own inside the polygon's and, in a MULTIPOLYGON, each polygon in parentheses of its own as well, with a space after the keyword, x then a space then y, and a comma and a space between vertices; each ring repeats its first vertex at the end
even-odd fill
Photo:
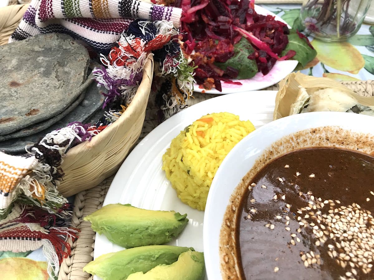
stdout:
POLYGON ((294 50, 296 55, 292 59, 297 60, 302 67, 316 57, 317 52, 313 50, 304 38, 300 38, 294 30, 290 30, 288 35, 288 44, 282 52, 282 56, 286 55, 289 50, 294 50))

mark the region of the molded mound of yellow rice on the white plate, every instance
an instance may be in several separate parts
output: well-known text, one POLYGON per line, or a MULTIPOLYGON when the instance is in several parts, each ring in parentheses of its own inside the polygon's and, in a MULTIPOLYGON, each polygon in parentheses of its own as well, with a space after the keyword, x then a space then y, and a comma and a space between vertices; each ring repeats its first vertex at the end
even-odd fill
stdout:
POLYGON ((202 116, 175 137, 162 156, 162 169, 183 203, 204 210, 209 187, 230 150, 254 131, 232 113, 202 116))

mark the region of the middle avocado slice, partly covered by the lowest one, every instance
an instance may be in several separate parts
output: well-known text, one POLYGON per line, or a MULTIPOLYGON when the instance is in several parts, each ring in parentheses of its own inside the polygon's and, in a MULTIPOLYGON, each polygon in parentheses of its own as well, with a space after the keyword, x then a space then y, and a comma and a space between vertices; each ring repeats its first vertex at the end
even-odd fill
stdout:
POLYGON ((132 273, 146 273, 159 264, 172 264, 181 253, 191 250, 194 249, 169 245, 131 248, 99 256, 83 267, 83 271, 103 280, 125 280, 132 273))

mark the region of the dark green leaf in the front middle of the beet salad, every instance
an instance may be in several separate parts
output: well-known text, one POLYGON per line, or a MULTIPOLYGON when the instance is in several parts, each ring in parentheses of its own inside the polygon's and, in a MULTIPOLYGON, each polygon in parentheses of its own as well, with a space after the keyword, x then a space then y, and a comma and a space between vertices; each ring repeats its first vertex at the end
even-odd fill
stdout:
POLYGON ((254 59, 248 59, 248 56, 254 52, 254 49, 246 38, 241 38, 234 45, 234 56, 230 57, 226 62, 215 62, 214 64, 226 71, 227 66, 231 66, 239 70, 236 79, 243 80, 252 78, 257 74, 258 68, 254 59))

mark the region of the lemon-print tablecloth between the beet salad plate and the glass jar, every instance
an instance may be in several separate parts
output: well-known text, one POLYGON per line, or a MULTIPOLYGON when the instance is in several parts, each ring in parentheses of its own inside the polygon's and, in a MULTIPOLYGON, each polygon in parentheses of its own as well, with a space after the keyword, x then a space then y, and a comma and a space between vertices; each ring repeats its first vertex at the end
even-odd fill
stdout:
MULTIPOLYGON (((300 29, 300 5, 260 5, 277 14, 292 28, 300 29)), ((308 34, 307 30, 303 31, 308 34)), ((362 24, 347 42, 325 43, 309 37, 317 56, 301 70, 338 81, 374 80, 374 26, 362 24)))

